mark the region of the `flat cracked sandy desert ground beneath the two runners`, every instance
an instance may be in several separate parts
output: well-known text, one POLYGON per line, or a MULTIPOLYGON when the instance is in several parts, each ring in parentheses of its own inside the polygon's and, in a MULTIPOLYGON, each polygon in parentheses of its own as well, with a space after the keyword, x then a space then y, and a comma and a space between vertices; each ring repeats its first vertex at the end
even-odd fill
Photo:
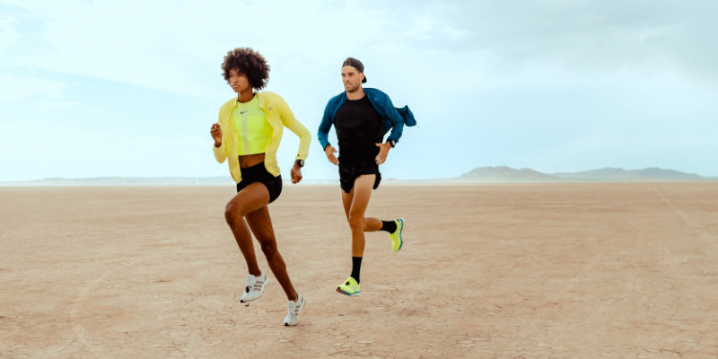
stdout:
MULTIPOLYGON (((0 188, 3 358, 713 358, 718 183, 383 186, 362 295, 335 186, 270 206, 297 327, 246 266, 227 188, 0 188)), ((257 248, 258 250, 258 248, 257 248)), ((260 267, 268 269, 258 250, 260 267)))

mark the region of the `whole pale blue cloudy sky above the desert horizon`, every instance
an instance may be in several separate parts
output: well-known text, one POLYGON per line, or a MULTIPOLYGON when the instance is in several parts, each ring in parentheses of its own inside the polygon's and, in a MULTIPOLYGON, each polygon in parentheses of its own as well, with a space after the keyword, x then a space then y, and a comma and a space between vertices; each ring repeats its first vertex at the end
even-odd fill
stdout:
MULTIPOLYGON (((0 0, 0 181, 231 180, 209 128, 236 95, 221 64, 238 47, 267 58, 265 90, 310 130, 306 180, 338 179, 316 133, 346 57, 418 122, 385 179, 504 165, 718 176, 715 13, 713 0, 0 0)), ((285 131, 285 176, 298 144, 285 131)))

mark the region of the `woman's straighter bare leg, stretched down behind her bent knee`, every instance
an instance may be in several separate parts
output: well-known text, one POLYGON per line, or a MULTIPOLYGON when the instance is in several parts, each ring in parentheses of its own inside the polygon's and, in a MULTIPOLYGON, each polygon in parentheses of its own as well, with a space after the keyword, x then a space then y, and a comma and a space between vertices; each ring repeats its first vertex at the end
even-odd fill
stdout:
POLYGON ((254 236, 262 247, 262 252, 264 252, 265 257, 267 257, 269 268, 272 269, 272 273, 274 273, 277 282, 279 282, 285 290, 287 300, 296 302, 298 295, 294 290, 292 281, 289 279, 289 274, 286 272, 285 259, 282 258, 282 255, 276 248, 275 232, 272 228, 272 219, 269 216, 267 206, 263 206, 247 214, 246 218, 247 223, 250 224, 252 233, 254 233, 254 236))

